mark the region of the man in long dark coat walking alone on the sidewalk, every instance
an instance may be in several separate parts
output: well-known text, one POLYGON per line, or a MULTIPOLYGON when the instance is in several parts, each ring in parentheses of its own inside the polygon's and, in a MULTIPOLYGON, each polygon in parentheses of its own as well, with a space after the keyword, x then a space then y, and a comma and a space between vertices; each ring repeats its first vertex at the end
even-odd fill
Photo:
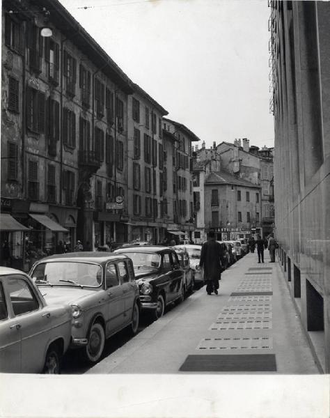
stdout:
POLYGON ((207 295, 211 295, 212 292, 217 295, 219 279, 221 279, 223 249, 219 242, 215 240, 214 231, 210 231, 208 238, 207 242, 204 242, 202 246, 199 265, 201 268, 204 268, 207 295))

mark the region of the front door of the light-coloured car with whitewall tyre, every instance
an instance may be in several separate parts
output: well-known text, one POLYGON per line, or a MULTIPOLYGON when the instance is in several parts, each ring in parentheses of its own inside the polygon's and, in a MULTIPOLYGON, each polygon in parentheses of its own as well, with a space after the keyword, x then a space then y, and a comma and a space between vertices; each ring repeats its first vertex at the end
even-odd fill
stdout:
POLYGON ((124 323, 125 302, 123 288, 120 284, 116 263, 107 263, 105 270, 105 286, 107 291, 108 308, 107 308, 107 325, 106 334, 110 336, 114 334, 124 323))

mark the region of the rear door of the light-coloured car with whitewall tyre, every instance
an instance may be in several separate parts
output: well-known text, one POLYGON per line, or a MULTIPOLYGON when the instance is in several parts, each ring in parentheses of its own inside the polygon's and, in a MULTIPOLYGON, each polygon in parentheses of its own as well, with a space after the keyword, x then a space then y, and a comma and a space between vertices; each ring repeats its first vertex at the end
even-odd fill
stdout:
MULTIPOLYGON (((132 263, 132 261, 130 261, 132 263)), ((133 267, 132 269, 129 269, 128 260, 118 261, 116 263, 117 269, 118 269, 118 277, 119 277, 119 283, 122 288, 123 292, 123 299, 124 299, 124 321, 125 323, 129 323, 129 321, 132 319, 132 312, 133 312, 133 306, 134 306, 134 300, 136 295, 136 283, 135 280, 132 282, 130 280, 130 277, 132 276, 132 273, 129 274, 129 271, 134 271, 133 267)))

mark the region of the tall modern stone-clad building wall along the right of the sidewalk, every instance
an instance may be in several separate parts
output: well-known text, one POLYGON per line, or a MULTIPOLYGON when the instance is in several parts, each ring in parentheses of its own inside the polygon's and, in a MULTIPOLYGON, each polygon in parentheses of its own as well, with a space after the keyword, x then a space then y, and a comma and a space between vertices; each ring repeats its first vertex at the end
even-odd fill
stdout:
POLYGON ((330 371, 330 4, 272 1, 278 255, 315 359, 330 371))

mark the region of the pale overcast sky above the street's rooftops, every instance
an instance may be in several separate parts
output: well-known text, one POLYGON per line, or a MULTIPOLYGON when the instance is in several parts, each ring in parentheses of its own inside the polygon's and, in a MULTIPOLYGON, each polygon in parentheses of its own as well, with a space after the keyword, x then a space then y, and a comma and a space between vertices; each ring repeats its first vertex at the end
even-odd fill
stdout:
POLYGON ((235 138, 274 146, 267 0, 60 1, 207 147, 235 138))

